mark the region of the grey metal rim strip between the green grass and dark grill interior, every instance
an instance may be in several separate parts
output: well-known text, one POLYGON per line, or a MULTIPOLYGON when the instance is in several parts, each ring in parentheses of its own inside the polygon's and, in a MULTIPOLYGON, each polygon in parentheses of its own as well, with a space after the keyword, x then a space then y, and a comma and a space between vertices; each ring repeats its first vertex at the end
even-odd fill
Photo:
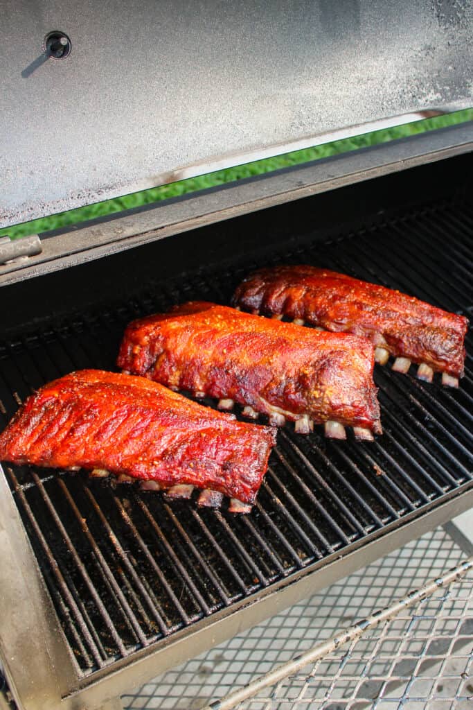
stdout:
MULTIPOLYGON (((300 200, 343 185, 379 178, 473 150, 473 121, 430 133, 381 143, 286 170, 262 179, 238 180, 216 190, 201 190, 174 200, 157 202, 128 214, 111 214, 91 224, 80 224, 44 234, 42 252, 24 263, 0 265, 0 288, 68 266, 165 239, 205 224, 275 204, 300 200)), ((23 240, 21 240, 23 241, 23 240)))

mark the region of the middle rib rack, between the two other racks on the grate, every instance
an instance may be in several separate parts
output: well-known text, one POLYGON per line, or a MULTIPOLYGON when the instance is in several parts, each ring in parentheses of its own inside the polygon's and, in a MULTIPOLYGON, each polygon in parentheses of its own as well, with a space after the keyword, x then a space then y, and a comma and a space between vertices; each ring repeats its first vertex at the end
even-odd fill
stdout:
MULTIPOLYGON (((296 421, 302 432, 311 421, 381 432, 374 353, 366 338, 191 302, 128 325, 118 366, 218 398, 225 408, 238 402, 246 405, 244 414, 265 413, 275 424, 296 421)), ((343 427, 325 431, 338 438, 344 434, 343 427)))

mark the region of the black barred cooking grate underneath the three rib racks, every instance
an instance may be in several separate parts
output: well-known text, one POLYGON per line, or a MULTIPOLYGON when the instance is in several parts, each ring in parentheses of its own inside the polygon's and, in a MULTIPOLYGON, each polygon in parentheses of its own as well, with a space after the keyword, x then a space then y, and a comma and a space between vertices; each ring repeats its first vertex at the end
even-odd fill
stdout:
MULTIPOLYGON (((263 263, 314 263, 467 313, 473 214, 436 204, 321 244, 305 235, 290 254, 187 274, 141 299, 5 344, 0 425, 35 388, 73 369, 113 369, 133 317, 201 298, 228 302, 263 263)), ((467 344, 472 352, 471 339, 467 344)), ((167 502, 46 469, 6 466, 14 498, 83 676, 159 642, 274 581, 390 530, 472 482, 472 358, 458 391, 376 368, 384 436, 333 442, 292 427, 248 516, 167 502)), ((208 404, 210 404, 208 402, 208 404)))

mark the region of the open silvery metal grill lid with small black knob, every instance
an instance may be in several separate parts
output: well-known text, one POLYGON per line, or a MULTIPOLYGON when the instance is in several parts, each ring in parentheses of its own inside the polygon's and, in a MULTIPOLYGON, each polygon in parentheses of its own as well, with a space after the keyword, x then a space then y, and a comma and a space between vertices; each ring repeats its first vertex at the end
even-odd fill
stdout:
POLYGON ((4 0, 0 226, 467 107, 472 26, 467 0, 4 0))

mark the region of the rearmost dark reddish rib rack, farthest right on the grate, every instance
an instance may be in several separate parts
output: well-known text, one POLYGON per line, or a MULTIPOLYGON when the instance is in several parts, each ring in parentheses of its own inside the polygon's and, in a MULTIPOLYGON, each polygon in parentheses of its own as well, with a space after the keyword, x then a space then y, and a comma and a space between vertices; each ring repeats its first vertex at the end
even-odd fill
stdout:
POLYGON ((399 360, 394 369, 421 364, 418 376, 455 386, 464 368, 468 321, 417 298, 313 266, 280 266, 257 271, 238 286, 233 304, 263 315, 288 316, 332 332, 368 337, 376 359, 399 360))

